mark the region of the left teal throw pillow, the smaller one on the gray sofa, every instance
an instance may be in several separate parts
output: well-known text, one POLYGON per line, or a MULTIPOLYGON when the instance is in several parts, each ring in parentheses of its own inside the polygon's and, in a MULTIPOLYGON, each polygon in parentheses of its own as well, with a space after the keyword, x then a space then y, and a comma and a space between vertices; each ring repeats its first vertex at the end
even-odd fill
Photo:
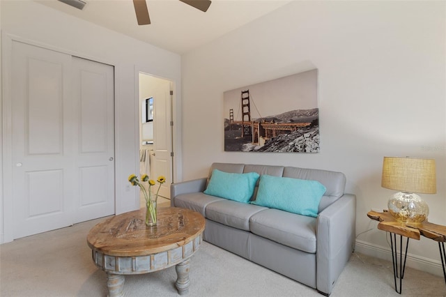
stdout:
POLYGON ((235 174, 214 169, 204 194, 248 203, 258 179, 256 172, 235 174))

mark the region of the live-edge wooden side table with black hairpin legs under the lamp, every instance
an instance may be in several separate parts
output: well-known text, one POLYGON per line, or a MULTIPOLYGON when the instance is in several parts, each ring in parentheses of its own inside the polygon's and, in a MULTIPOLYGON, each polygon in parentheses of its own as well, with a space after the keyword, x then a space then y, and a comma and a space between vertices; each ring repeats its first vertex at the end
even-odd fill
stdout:
POLYGON ((372 220, 379 221, 378 229, 390 232, 390 247, 392 248, 392 264, 394 272, 394 284, 395 291, 401 294, 402 280, 404 277, 404 269, 406 268, 406 256, 408 250, 409 239, 413 238, 417 241, 420 240, 420 236, 431 238, 433 241, 438 242, 438 249, 440 250, 441 264, 443 266, 443 276, 446 282, 446 254, 445 254, 445 242, 446 242, 446 226, 439 224, 433 224, 431 222, 422 222, 420 224, 403 223, 398 222, 387 211, 378 213, 376 211, 369 211, 367 216, 372 220), (397 258, 397 235, 399 235, 399 267, 397 258), (393 236, 393 237, 392 237, 393 236), (406 237, 406 250, 403 257, 403 238, 406 237), (399 276, 400 275, 400 276, 399 276), (397 277, 399 277, 399 289, 397 287, 397 277))

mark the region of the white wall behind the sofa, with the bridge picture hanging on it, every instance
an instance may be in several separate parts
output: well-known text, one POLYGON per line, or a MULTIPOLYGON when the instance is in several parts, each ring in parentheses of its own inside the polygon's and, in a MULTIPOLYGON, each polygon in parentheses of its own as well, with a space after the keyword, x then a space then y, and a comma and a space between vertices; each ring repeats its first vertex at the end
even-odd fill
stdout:
MULTIPOLYGON (((390 258, 367 218, 387 208, 383 156, 435 158, 438 193, 422 195, 446 224, 444 1, 293 1, 182 57, 184 180, 212 162, 344 172, 357 195, 356 248, 390 258), (320 153, 224 152, 223 93, 318 68, 320 153), (361 234, 371 228, 372 230, 361 234)), ((410 266, 440 271, 436 242, 411 241, 410 266)))

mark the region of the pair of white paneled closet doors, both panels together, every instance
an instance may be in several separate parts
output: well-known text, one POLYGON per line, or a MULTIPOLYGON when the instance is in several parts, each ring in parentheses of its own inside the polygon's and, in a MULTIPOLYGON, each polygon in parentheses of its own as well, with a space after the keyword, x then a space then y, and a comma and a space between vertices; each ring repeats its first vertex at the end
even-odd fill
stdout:
POLYGON ((13 238, 114 213, 113 67, 12 52, 13 238))

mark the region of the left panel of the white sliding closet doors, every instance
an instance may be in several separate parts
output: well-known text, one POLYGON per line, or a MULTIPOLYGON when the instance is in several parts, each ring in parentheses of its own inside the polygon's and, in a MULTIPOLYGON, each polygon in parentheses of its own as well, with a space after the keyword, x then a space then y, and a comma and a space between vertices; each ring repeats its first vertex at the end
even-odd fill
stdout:
POLYGON ((14 238, 72 224, 71 56, 13 42, 14 238))

